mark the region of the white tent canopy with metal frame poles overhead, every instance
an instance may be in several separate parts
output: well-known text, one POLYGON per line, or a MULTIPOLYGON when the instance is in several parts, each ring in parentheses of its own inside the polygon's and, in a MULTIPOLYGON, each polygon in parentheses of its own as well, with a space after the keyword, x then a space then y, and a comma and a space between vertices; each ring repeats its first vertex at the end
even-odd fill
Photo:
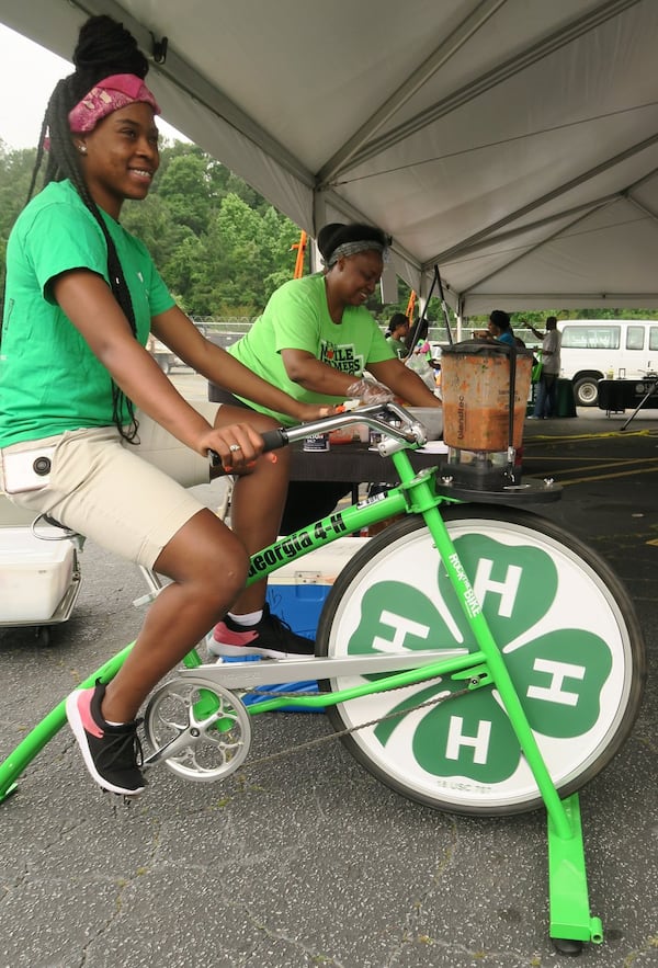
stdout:
POLYGON ((382 226, 421 297, 438 265, 462 316, 658 307, 656 0, 0 5, 67 58, 89 13, 167 37, 166 119, 311 235, 382 226))

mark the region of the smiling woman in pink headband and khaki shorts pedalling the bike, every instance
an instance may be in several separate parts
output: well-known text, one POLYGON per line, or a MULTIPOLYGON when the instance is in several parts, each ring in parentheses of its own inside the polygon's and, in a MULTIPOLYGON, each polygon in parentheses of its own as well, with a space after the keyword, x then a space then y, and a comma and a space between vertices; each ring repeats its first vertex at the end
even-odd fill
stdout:
POLYGON ((261 457, 261 432, 276 425, 265 411, 298 422, 331 408, 286 396, 205 340, 122 227, 124 201, 146 197, 159 163, 159 107, 134 37, 92 16, 73 64, 48 102, 30 195, 47 130, 45 186, 7 248, 0 488, 35 516, 171 579, 116 676, 66 703, 93 779, 136 796, 139 706, 228 608, 236 622, 250 613, 240 628, 264 654, 313 653, 263 610, 264 585, 245 584, 248 553, 277 535, 287 487, 286 452, 261 457), (146 351, 150 331, 264 412, 193 408, 146 351), (246 475, 240 536, 185 489, 208 481, 209 452, 246 475))

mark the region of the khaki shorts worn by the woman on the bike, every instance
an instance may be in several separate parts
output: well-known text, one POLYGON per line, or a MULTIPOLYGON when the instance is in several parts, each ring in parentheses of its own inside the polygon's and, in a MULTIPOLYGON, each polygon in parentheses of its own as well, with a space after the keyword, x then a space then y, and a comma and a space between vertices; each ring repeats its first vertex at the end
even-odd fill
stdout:
MULTIPOLYGON (((213 424, 217 403, 194 403, 213 424)), ((0 451, 53 447, 46 487, 8 496, 21 508, 49 514, 104 548, 152 568, 162 548, 205 505, 185 488, 208 483, 208 460, 138 413, 139 444, 113 426, 68 431, 0 451)))

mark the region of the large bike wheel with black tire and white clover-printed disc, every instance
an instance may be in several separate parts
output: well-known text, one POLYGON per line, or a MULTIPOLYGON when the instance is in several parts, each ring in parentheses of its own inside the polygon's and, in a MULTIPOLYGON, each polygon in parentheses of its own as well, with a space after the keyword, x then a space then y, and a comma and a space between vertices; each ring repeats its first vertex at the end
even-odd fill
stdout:
MULTIPOLYGON (((508 657, 553 782, 568 796, 612 760, 639 710, 646 661, 633 604, 598 555, 535 514, 464 504, 445 510, 443 519, 508 657)), ((424 522, 409 516, 344 567, 325 604, 316 649, 343 657, 442 647, 477 648, 424 522)), ((341 676, 324 687, 336 692, 363 682, 341 676)), ((409 799, 485 816, 541 807, 492 687, 408 709, 463 687, 463 680, 447 675, 440 684, 426 681, 327 711, 341 731, 396 710, 342 741, 370 773, 409 799)))

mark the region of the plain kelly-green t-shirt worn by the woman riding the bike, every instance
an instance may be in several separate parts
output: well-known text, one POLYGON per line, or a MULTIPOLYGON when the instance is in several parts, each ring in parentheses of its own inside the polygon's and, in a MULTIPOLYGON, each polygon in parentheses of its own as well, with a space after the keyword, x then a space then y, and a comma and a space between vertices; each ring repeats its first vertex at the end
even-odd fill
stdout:
MULTIPOLYGON (((145 246, 103 213, 131 291, 137 339, 174 305, 145 246)), ((55 303, 50 282, 89 269, 105 281, 101 227, 69 181, 52 182, 23 209, 7 247, 0 344, 0 447, 112 424, 112 379, 55 303)), ((124 422, 129 422, 127 411, 124 422)))

